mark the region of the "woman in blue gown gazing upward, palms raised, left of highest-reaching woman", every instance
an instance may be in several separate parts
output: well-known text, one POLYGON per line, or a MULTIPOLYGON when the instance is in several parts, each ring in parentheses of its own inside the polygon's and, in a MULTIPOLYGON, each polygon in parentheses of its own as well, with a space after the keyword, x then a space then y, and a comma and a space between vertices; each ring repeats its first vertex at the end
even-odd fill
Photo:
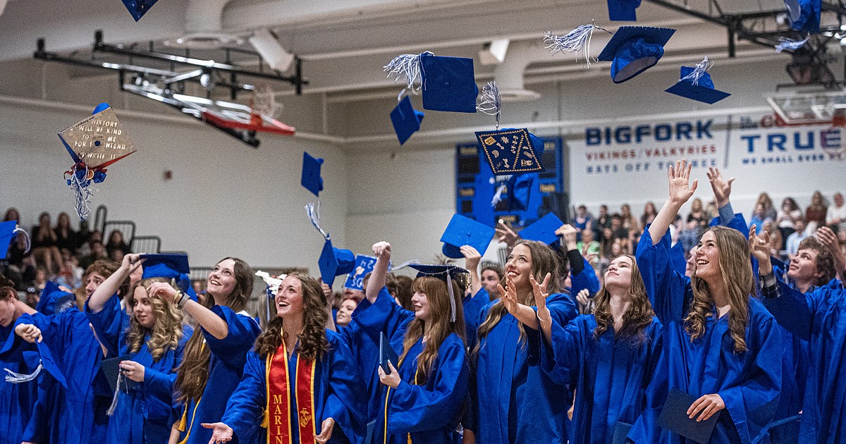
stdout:
MULTIPOLYGON (((633 256, 614 259, 596 294, 592 315, 561 325, 550 315, 541 286, 533 280, 537 312, 503 296, 525 326, 540 328, 541 368, 553 381, 575 390, 569 441, 612 444, 624 439, 646 408, 646 388, 661 356, 661 322, 652 312, 633 256), (618 423, 622 423, 618 425, 618 423), (615 430, 623 430, 617 431, 615 430)), ((539 347, 540 345, 540 347, 539 347)))

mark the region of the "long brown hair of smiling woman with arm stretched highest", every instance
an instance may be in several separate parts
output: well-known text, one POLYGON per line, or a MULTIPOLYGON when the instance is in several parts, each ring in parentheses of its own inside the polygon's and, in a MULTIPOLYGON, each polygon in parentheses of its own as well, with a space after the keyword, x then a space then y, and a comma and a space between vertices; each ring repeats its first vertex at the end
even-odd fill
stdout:
MULTIPOLYGON (((720 258, 720 278, 728 295, 728 329, 734 341, 734 353, 746 351, 746 326, 749 324, 749 298, 755 291, 755 280, 749 259, 749 241, 737 230, 727 227, 711 227, 720 258)), ((706 232, 707 233, 707 232, 706 232)), ((706 318, 713 315, 714 299, 711 288, 704 279, 690 277, 693 301, 684 330, 691 340, 705 334, 706 318)))

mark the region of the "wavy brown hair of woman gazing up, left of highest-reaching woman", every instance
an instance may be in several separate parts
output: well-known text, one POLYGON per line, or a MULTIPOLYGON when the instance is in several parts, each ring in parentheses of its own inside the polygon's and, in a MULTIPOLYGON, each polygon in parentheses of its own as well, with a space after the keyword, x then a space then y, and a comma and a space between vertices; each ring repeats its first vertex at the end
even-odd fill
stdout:
MULTIPOLYGON (((643 343, 646 339, 644 329, 652 323, 655 312, 652 311, 652 304, 649 302, 649 296, 646 295, 646 286, 643 283, 643 277, 640 276, 637 260, 632 255, 624 256, 631 260, 631 283, 627 292, 631 304, 629 310, 623 315, 623 328, 619 332, 614 332, 614 335, 615 337, 632 337, 636 343, 643 343)), ((596 319, 593 337, 598 338, 614 325, 614 317, 611 314, 611 292, 603 284, 593 300, 596 304, 596 309, 593 311, 596 319)))

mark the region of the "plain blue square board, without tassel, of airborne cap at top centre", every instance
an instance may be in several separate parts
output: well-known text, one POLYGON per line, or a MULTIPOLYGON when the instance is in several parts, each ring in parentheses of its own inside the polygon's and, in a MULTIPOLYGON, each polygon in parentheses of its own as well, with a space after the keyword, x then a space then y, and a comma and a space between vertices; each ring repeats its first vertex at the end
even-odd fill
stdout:
POLYGON ((420 54, 423 108, 431 111, 476 112, 479 86, 473 59, 420 54))

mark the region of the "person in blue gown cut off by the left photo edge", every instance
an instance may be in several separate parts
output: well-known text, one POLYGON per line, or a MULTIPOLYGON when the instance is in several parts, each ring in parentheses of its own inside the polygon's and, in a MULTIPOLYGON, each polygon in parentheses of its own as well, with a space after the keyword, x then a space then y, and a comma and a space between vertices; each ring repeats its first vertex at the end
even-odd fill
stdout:
MULTIPOLYGON (((29 375, 38 367, 35 345, 4 346, 9 339, 14 342, 14 322, 20 315, 35 311, 18 299, 14 283, 0 276, 0 369, 29 375)), ((6 375, 5 371, 3 375, 6 375)), ((38 380, 13 384, 4 377, 0 378, 0 430, 5 430, 0 433, 0 444, 41 441, 41 426, 37 416, 33 415, 38 400, 38 384, 38 380)))

